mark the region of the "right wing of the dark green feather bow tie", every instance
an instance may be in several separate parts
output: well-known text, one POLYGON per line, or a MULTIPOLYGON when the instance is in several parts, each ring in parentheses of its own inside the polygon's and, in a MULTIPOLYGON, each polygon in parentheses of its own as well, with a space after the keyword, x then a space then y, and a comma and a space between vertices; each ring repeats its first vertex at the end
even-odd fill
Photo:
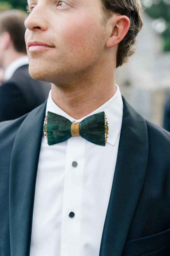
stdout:
POLYGON ((104 112, 90 115, 80 123, 80 136, 97 145, 105 146, 104 112))

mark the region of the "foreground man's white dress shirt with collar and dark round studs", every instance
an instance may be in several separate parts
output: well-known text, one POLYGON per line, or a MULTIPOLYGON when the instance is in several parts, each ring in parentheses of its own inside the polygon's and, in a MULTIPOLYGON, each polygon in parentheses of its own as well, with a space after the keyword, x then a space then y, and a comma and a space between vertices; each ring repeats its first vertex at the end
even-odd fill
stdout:
MULTIPOLYGON (((46 112, 75 120, 52 100, 46 112)), ((33 209, 30 256, 99 256, 122 126, 119 87, 114 96, 89 115, 104 111, 106 146, 80 136, 48 146, 42 138, 33 209), (77 162, 77 167, 72 162, 77 162), (73 211, 74 218, 69 217, 73 211)), ((87 116, 89 116, 87 115, 87 116)))

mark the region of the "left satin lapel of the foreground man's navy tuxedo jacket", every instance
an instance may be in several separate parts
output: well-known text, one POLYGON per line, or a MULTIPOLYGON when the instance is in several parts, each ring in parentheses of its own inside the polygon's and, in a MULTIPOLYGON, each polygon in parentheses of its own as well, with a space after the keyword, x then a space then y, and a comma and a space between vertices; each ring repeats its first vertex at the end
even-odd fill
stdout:
POLYGON ((22 122, 13 146, 9 177, 11 256, 30 253, 35 182, 46 102, 22 122))

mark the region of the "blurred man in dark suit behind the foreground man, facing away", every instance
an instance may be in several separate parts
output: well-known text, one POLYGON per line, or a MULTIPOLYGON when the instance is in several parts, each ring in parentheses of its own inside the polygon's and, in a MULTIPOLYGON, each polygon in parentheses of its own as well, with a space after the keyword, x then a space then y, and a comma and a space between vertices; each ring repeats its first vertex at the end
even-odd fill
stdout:
POLYGON ((0 122, 16 119, 48 97, 51 84, 31 78, 24 41, 24 21, 28 14, 20 10, 0 13, 0 68, 4 80, 0 87, 0 122))

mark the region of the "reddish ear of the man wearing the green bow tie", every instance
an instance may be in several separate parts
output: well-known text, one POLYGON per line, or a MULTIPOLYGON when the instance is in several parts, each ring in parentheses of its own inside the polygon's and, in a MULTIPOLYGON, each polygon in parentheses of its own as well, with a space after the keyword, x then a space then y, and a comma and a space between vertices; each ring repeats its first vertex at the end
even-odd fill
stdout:
POLYGON ((127 34, 130 20, 125 15, 112 16, 108 22, 109 34, 105 46, 111 48, 118 45, 127 34))

